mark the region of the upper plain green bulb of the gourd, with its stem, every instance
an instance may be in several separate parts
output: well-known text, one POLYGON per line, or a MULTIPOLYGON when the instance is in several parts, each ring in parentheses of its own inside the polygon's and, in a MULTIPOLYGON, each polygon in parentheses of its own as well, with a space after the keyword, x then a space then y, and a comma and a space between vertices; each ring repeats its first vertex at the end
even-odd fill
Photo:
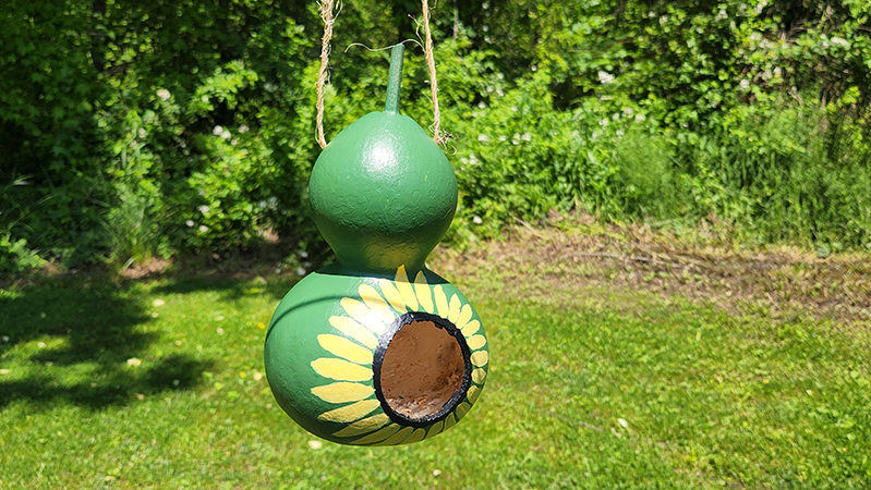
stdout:
POLYGON ((450 162, 414 120, 398 112, 400 47, 394 51, 385 111, 339 133, 309 183, 317 228, 352 269, 423 267, 457 209, 450 162))

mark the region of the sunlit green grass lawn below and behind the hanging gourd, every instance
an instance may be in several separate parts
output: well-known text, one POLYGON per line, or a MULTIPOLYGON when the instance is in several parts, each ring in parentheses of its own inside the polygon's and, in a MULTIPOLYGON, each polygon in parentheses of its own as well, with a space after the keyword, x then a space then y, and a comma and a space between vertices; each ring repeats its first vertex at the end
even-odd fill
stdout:
POLYGON ((461 424, 395 448, 320 443, 273 400, 262 348, 289 277, 0 291, 0 488, 871 488, 868 285, 832 316, 593 248, 530 235, 436 257, 484 320, 491 372, 461 424))

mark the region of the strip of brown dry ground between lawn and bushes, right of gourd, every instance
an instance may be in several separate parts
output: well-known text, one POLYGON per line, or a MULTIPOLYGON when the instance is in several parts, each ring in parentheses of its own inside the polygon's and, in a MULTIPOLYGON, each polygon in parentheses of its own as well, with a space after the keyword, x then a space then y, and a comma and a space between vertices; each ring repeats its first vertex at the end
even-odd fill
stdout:
POLYGON ((566 298, 579 289, 601 291, 603 299, 617 290, 645 291, 733 313, 752 310, 778 321, 830 318, 871 324, 869 254, 821 258, 789 247, 699 246, 644 226, 573 220, 523 223, 505 241, 465 253, 439 249, 433 262, 448 277, 497 278, 494 292, 498 287, 501 295, 570 301, 566 298), (528 281, 530 275, 536 281, 528 281))

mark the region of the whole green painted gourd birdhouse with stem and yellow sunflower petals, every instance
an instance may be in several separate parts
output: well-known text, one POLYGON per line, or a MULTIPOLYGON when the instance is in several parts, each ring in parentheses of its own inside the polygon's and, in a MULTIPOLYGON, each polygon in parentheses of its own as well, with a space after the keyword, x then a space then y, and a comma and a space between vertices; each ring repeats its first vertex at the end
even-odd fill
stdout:
POLYGON ((443 432, 472 407, 489 366, 477 313, 424 265, 453 218, 457 182, 399 114, 402 54, 394 47, 384 112, 344 128, 315 163, 310 201, 338 262, 288 292, 264 347, 281 408, 343 444, 443 432))

